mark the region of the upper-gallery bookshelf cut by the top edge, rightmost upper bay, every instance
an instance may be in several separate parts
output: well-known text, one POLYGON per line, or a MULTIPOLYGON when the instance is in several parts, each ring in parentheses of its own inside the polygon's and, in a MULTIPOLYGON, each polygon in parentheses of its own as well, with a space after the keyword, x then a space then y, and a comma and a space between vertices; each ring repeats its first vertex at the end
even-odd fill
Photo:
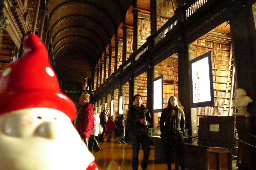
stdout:
POLYGON ((157 30, 174 15, 177 9, 176 2, 172 0, 157 0, 157 30))

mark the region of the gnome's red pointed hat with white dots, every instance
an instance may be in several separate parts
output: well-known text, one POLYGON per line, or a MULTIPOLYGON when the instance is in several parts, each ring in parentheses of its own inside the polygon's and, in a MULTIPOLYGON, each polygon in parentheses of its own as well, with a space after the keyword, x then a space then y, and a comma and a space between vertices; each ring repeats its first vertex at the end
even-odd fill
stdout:
POLYGON ((47 50, 34 34, 23 39, 24 55, 0 74, 0 115, 11 111, 46 107, 74 120, 75 104, 60 92, 58 79, 48 62, 47 50))

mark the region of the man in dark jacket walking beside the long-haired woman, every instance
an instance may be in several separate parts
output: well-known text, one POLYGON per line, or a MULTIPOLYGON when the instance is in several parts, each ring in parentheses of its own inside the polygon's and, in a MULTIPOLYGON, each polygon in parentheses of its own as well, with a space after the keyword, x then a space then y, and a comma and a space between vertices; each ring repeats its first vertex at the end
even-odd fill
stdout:
POLYGON ((132 169, 138 170, 139 167, 139 148, 140 144, 144 152, 143 162, 141 163, 142 170, 147 169, 148 159, 150 154, 150 143, 148 138, 148 126, 150 125, 152 118, 148 109, 143 106, 140 95, 133 97, 135 105, 133 105, 127 113, 127 127, 132 133, 132 169))

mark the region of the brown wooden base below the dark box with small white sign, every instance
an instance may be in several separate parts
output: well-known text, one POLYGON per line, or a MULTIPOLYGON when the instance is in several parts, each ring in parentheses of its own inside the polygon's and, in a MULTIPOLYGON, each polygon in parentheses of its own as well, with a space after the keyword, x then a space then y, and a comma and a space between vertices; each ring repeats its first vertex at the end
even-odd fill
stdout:
POLYGON ((185 143, 185 166, 189 170, 232 170, 231 149, 185 143))

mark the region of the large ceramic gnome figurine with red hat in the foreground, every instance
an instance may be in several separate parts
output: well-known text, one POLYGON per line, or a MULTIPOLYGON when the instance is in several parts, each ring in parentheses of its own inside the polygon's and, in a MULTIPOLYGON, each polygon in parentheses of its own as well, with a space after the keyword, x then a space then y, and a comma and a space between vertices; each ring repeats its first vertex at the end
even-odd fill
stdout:
POLYGON ((45 46, 33 34, 23 45, 24 56, 0 75, 0 170, 97 170, 45 46))

